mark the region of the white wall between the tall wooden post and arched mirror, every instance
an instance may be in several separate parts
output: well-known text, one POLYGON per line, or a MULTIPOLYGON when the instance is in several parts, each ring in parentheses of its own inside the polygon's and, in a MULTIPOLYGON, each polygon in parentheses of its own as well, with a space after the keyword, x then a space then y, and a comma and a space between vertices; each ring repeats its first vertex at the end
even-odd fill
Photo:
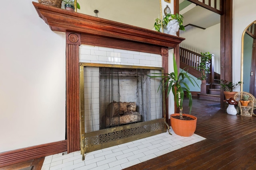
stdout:
MULTIPOLYGON (((233 0, 233 82, 241 80, 242 33, 256 20, 255 6, 255 0, 233 0)), ((240 87, 234 91, 240 91, 240 87)))

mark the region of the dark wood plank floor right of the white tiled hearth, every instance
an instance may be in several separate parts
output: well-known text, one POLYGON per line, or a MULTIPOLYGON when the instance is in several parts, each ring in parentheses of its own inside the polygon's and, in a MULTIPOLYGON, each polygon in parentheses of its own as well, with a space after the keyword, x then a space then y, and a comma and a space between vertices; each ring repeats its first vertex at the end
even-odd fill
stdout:
MULTIPOLYGON (((191 114, 198 118, 195 133, 206 140, 126 170, 255 170, 256 116, 228 115, 208 106, 215 103, 193 100, 191 114)), ((188 108, 184 112, 188 113, 188 108)))

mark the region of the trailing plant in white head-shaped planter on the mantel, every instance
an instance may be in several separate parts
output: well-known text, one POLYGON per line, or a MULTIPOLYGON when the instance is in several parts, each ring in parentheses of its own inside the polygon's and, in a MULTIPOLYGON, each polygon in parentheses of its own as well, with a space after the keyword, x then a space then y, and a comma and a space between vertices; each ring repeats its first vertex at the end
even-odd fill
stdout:
MULTIPOLYGON (((161 19, 156 18, 156 22, 154 23, 154 28, 158 32, 162 32, 161 28, 161 19)), ((182 25, 183 23, 183 16, 179 14, 166 14, 164 16, 162 25, 165 33, 168 33, 170 35, 176 35, 176 32, 180 29, 182 31, 185 31, 185 27, 182 25), (177 25, 175 25, 177 23, 177 25), (173 26, 174 25, 174 26, 173 26), (175 27, 175 28, 174 28, 175 27), (173 29, 177 29, 173 31, 173 29)))

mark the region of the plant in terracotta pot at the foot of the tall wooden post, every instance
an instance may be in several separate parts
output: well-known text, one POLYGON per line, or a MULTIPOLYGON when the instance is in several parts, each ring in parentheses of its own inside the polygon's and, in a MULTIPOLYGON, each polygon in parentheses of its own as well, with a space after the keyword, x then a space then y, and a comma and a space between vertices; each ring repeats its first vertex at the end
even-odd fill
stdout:
POLYGON ((234 98, 234 94, 236 92, 233 92, 233 88, 235 88, 238 84, 241 84, 242 82, 232 83, 228 82, 227 80, 221 80, 220 81, 220 88, 224 90, 224 95, 226 99, 234 98))

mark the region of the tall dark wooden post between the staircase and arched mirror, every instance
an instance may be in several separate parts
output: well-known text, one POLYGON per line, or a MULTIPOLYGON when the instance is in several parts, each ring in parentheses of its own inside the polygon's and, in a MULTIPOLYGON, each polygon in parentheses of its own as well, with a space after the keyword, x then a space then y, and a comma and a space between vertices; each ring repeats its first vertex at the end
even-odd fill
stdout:
MULTIPOLYGON (((220 79, 232 82, 232 13, 233 0, 222 0, 224 14, 220 16, 220 79)), ((223 90, 220 90, 220 107, 225 109, 223 90)))

